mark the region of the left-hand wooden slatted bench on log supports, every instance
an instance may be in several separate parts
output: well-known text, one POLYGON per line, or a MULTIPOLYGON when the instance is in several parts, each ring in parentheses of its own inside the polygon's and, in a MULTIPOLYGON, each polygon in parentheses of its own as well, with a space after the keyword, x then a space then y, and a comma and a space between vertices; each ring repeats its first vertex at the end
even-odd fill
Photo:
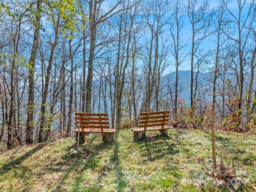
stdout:
MULTIPOLYGON (((114 141, 115 129, 109 129, 109 118, 107 113, 95 114, 95 113, 76 113, 76 141, 78 138, 79 129, 79 141, 85 142, 85 133, 101 133, 102 140, 107 142, 114 141)), ((79 142, 80 143, 80 142, 79 142)))

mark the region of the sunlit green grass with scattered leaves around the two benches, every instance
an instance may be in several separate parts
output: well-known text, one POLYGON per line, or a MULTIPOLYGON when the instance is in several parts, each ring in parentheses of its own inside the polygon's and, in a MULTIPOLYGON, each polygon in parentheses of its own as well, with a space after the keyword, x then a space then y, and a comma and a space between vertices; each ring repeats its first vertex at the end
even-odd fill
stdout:
MULTIPOLYGON (((209 131, 149 134, 156 136, 153 141, 135 142, 131 130, 116 132, 114 143, 103 143, 100 135, 86 136, 82 150, 87 155, 80 159, 68 157, 74 139, 5 151, 0 155, 0 191, 215 190, 206 176, 212 170, 209 131), (197 180, 205 182, 203 188, 193 186, 197 180)), ((216 135, 218 149, 225 151, 242 137, 216 135)), ((250 182, 256 179, 255 149, 255 135, 246 136, 233 157, 239 159, 238 167, 247 170, 250 182)))

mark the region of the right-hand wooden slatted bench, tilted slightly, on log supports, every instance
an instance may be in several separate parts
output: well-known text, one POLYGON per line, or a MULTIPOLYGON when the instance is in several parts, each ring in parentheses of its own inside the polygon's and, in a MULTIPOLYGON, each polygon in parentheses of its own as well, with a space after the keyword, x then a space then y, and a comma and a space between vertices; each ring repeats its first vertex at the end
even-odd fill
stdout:
POLYGON ((141 113, 139 125, 133 128, 133 140, 140 140, 145 137, 147 131, 160 131, 167 135, 170 111, 153 111, 141 113))

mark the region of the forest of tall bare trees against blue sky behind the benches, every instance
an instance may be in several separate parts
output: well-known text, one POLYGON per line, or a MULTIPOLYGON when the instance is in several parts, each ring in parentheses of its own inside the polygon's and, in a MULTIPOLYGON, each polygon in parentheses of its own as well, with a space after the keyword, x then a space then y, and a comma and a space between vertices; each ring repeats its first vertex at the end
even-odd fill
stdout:
POLYGON ((254 0, 1 1, 0 142, 74 136, 76 111, 116 129, 150 110, 255 129, 255 14, 254 0))

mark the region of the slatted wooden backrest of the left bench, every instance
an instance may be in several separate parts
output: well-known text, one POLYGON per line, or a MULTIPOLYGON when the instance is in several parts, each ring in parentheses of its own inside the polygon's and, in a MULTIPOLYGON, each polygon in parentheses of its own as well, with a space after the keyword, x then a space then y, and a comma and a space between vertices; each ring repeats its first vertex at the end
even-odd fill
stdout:
POLYGON ((84 129, 108 129, 109 118, 107 113, 76 113, 76 128, 84 129))

